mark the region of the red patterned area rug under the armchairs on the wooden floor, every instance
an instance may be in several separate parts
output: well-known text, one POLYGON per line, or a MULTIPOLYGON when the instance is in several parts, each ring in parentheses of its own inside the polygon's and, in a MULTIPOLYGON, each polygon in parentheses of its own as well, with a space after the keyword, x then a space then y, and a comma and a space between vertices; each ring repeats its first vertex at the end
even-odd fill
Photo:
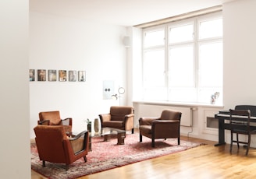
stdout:
POLYGON ((87 163, 84 163, 84 159, 81 158, 69 165, 69 170, 67 171, 65 164, 46 162, 46 167, 42 167, 42 162, 39 160, 37 153, 37 146, 35 143, 31 143, 31 168, 44 175, 44 177, 71 179, 158 156, 165 156, 170 153, 181 152, 201 145, 200 143, 181 140, 180 146, 176 146, 177 139, 157 139, 155 140, 155 148, 152 148, 151 139, 143 137, 143 142, 140 143, 138 133, 127 134, 125 145, 116 145, 116 143, 117 139, 114 136, 108 142, 103 142, 101 137, 93 138, 92 151, 87 155, 87 163))

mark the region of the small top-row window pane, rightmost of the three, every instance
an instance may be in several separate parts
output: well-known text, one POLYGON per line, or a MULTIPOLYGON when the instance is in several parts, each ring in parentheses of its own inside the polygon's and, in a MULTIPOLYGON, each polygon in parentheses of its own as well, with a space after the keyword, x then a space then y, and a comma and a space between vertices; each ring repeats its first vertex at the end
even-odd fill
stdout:
POLYGON ((222 19, 204 21, 199 24, 199 38, 222 37, 222 19))

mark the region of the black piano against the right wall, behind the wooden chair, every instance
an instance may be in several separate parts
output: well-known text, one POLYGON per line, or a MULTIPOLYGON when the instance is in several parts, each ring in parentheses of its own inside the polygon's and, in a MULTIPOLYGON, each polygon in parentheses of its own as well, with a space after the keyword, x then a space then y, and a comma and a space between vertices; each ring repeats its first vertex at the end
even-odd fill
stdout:
MULTIPOLYGON (((256 106, 252 105, 237 105, 235 110, 250 110, 251 111, 251 122, 252 125, 255 125, 256 128, 256 106)), ((219 120, 219 142, 215 146, 221 146, 226 144, 225 142, 225 129, 230 130, 229 125, 229 111, 219 111, 218 114, 215 114, 215 118, 219 120)), ((237 121, 244 121, 242 117, 237 117, 237 121)))

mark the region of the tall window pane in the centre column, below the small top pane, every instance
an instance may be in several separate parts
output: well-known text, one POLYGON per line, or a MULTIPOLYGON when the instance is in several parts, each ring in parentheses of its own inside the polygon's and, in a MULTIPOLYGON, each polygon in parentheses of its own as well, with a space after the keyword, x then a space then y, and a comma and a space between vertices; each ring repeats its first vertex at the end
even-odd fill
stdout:
POLYGON ((170 49, 169 86, 194 86, 194 53, 192 45, 170 49))

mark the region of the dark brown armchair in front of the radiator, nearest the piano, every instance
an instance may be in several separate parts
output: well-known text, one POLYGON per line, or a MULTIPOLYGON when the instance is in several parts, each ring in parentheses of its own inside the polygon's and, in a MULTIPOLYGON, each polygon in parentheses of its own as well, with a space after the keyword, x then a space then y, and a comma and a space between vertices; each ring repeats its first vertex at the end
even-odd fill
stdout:
POLYGON ((164 110, 160 118, 140 118, 140 142, 142 135, 152 139, 152 147, 155 147, 155 139, 177 138, 180 145, 180 111, 164 110))

